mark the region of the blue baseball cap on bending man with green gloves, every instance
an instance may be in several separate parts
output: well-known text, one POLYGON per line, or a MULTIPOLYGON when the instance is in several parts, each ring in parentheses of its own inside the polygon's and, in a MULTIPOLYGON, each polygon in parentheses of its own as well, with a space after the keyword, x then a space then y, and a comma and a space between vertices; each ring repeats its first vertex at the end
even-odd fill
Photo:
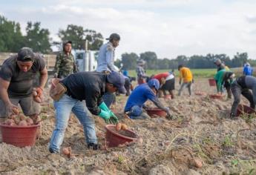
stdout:
POLYGON ((125 77, 122 76, 121 73, 112 71, 109 75, 108 75, 108 82, 113 84, 117 90, 119 91, 119 93, 126 93, 125 90, 125 77))

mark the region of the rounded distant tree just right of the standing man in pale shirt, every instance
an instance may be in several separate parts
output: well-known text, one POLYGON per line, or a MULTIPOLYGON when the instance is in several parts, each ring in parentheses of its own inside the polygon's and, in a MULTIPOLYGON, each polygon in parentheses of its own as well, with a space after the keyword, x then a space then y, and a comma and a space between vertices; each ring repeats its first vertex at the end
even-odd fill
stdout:
POLYGON ((123 68, 126 70, 135 69, 139 56, 136 53, 123 53, 121 56, 123 68))

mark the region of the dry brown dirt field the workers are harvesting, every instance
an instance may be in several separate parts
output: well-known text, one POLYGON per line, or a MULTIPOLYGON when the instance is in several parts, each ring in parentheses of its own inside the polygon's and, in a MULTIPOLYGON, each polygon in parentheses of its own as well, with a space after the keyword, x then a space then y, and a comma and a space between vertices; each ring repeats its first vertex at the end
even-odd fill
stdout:
MULTIPOLYGON (((194 91, 199 90, 214 93, 215 88, 209 87, 207 79, 200 79, 194 84, 194 91)), ((126 99, 117 98, 120 118, 126 99)), ((48 152, 54 119, 45 120, 34 147, 0 144, 0 174, 256 174, 256 119, 229 119, 232 100, 189 97, 184 90, 183 96, 161 101, 171 108, 173 120, 120 119, 142 142, 105 151, 88 150, 82 128, 71 115, 62 145, 71 147, 71 158, 48 152), (200 162, 203 166, 197 168, 200 162)), ((243 104, 248 102, 243 99, 243 104)), ((54 115, 50 99, 45 98, 42 111, 54 115)), ((95 119, 99 143, 105 145, 105 123, 95 119)))

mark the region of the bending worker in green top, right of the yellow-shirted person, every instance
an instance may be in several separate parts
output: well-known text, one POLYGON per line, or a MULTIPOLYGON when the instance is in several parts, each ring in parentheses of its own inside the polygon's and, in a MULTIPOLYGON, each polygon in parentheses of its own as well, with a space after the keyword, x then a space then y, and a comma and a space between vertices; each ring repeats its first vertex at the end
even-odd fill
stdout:
POLYGON ((226 81, 225 76, 226 73, 232 73, 231 71, 227 71, 226 69, 220 70, 218 71, 215 76, 214 79, 217 82, 217 93, 218 94, 222 94, 223 93, 223 87, 226 88, 226 91, 228 93, 228 98, 231 99, 232 98, 232 93, 231 93, 231 88, 230 88, 230 83, 226 81))

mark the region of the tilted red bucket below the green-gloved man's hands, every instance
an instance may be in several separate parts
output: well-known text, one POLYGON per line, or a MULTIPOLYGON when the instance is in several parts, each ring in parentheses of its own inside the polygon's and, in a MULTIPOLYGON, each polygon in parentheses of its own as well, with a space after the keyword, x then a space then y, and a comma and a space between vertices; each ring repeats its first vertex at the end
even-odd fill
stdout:
POLYGON ((125 142, 134 142, 139 137, 131 130, 116 131, 116 125, 106 125, 105 129, 107 130, 106 141, 108 147, 117 147, 118 145, 125 144, 125 142))

